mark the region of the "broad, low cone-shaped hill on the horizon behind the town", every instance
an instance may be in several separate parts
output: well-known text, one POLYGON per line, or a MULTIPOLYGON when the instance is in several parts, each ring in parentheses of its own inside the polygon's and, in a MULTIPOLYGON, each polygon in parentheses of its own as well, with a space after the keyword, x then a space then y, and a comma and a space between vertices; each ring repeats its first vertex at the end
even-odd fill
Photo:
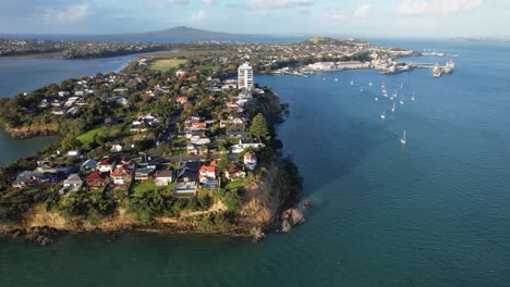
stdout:
POLYGON ((228 39, 240 39, 240 38, 255 38, 255 37, 269 37, 268 35, 258 35, 258 34, 232 34, 223 32, 211 32, 204 29, 195 29, 185 26, 173 27, 165 30, 157 32, 147 32, 147 33, 135 33, 135 34, 117 34, 117 35, 100 35, 99 38, 113 38, 113 39, 123 39, 123 38, 193 38, 193 39, 218 39, 218 40, 228 40, 228 39))

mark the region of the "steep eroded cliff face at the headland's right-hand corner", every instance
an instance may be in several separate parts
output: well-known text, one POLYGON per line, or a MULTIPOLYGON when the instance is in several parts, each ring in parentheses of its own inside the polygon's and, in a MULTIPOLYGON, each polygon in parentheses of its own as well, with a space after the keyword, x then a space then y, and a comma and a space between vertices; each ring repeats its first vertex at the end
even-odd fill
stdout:
POLYGON ((277 157, 263 167, 258 180, 246 187, 241 209, 242 224, 268 227, 278 222, 283 210, 294 205, 301 195, 301 177, 295 165, 277 157))

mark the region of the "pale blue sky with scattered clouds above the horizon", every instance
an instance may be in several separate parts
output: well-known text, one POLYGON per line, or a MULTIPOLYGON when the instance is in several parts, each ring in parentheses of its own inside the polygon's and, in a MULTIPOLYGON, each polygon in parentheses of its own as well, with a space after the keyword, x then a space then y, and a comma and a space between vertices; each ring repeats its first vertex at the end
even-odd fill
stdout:
POLYGON ((510 36, 510 0, 0 0, 1 34, 510 36))

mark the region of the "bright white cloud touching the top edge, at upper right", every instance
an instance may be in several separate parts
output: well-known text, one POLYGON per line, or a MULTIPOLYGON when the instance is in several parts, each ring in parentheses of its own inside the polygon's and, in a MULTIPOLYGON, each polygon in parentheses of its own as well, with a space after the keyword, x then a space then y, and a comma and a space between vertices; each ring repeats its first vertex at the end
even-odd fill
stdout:
POLYGON ((402 0, 397 13, 404 16, 461 13, 479 8, 483 0, 402 0))

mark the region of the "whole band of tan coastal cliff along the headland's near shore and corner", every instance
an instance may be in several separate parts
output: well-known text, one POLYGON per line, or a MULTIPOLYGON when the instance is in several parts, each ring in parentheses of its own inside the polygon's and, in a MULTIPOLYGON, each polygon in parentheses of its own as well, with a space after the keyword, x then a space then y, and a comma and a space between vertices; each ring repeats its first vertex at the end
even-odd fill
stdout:
POLYGON ((125 230, 170 233, 170 234, 218 234, 232 236, 250 236, 253 228, 269 228, 276 226, 283 211, 299 201, 301 194, 301 177, 295 165, 289 159, 279 159, 274 154, 268 160, 267 169, 263 169, 258 178, 243 188, 243 202, 239 212, 230 213, 231 224, 227 228, 204 228, 201 221, 204 216, 226 214, 228 208, 221 202, 215 202, 207 211, 181 212, 178 216, 157 217, 150 224, 142 224, 123 207, 117 208, 110 216, 92 222, 86 219, 69 217, 57 211, 48 210, 44 203, 35 204, 23 213, 20 221, 1 224, 1 233, 8 235, 34 236, 33 233, 56 234, 65 232, 105 232, 123 233, 125 230), (22 232, 20 232, 22 230, 22 232))

